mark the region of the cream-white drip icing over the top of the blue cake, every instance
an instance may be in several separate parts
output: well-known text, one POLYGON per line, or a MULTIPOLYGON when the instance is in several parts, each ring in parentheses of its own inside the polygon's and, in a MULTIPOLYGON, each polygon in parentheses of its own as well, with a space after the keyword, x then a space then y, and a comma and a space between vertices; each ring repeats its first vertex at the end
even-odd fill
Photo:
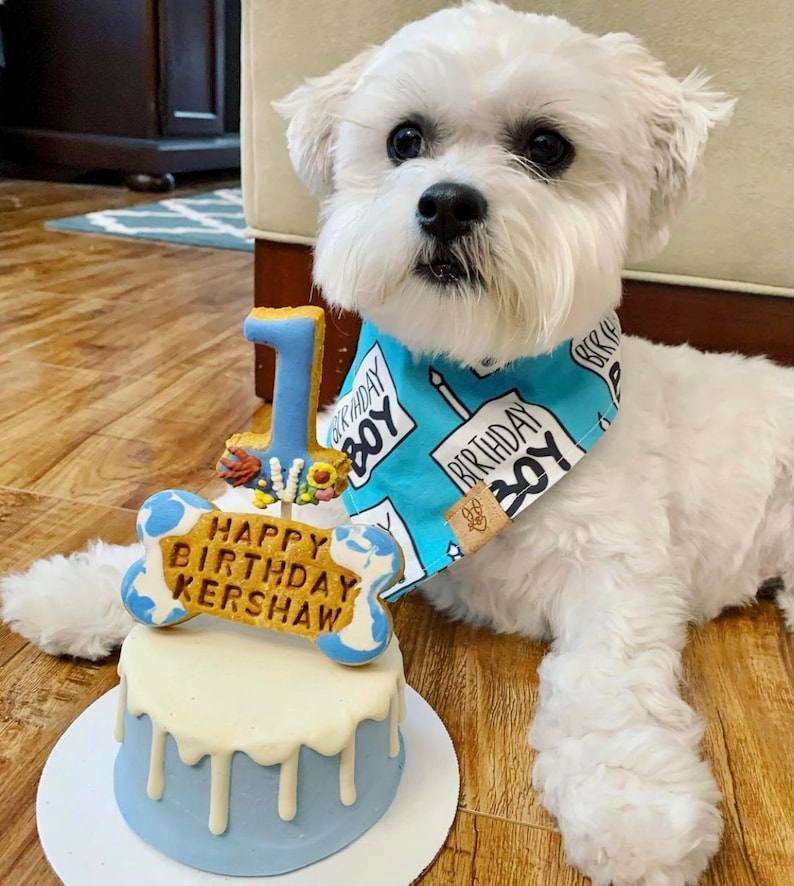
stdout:
POLYGON ((280 764, 278 813, 285 821, 297 814, 301 746, 326 756, 339 754, 340 800, 348 806, 356 801, 358 723, 365 719, 382 721, 388 716, 389 755, 399 754, 405 681, 396 640, 376 662, 350 669, 328 662, 319 650, 300 638, 265 638, 253 628, 203 616, 181 626, 178 633, 166 634, 140 625, 130 637, 132 641, 128 638, 125 642, 119 663, 122 679, 116 738, 124 738, 125 710, 134 717, 144 713, 149 716, 152 745, 147 793, 152 799, 162 797, 165 790, 167 734, 172 735, 186 765, 209 754, 208 825, 213 834, 222 834, 228 827, 235 751, 248 754, 263 766, 280 764), (236 666, 231 661, 235 657, 236 666), (279 668, 283 670, 277 673, 279 668), (163 674, 168 673, 179 677, 164 681, 163 674), (239 673, 235 685, 240 692, 231 693, 231 698, 230 693, 213 689, 205 696, 210 699, 209 707, 180 704, 193 692, 186 684, 204 687, 218 679, 219 673, 239 673), (261 706, 270 699, 257 694, 261 688, 257 675, 261 674, 271 675, 273 694, 284 692, 277 719, 272 710, 263 716, 261 706), (290 680, 290 675, 295 680, 290 680), (246 733, 254 735, 256 730, 261 731, 250 742, 242 740, 246 733))

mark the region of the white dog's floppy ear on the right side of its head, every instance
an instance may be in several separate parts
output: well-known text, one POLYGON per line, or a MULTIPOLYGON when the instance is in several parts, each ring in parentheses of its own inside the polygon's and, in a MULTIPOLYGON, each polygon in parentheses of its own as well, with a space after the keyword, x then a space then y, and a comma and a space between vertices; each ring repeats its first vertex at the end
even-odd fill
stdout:
POLYGON ((607 34, 601 42, 620 59, 643 116, 653 165, 650 201, 634 220, 629 259, 657 255, 667 244, 678 210, 698 194, 709 131, 731 119, 735 99, 709 88, 700 70, 678 80, 629 34, 607 34))

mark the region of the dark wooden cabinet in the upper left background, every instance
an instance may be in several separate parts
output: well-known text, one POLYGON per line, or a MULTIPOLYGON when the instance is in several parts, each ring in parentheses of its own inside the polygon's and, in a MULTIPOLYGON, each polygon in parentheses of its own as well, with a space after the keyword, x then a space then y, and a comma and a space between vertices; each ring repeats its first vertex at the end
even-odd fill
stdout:
POLYGON ((141 178, 240 164, 240 0, 7 0, 5 155, 141 178))

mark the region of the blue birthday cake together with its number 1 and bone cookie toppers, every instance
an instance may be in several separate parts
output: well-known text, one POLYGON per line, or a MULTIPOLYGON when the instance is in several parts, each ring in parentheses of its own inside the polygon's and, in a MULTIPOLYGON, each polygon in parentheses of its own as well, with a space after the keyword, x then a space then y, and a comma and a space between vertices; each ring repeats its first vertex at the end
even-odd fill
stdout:
POLYGON ((140 624, 119 661, 114 792, 166 855, 266 876, 343 848, 394 798, 405 679, 382 594, 404 560, 377 526, 291 519, 338 496, 350 467, 314 437, 322 312, 255 309, 245 331, 279 351, 272 428, 233 436, 218 469, 281 516, 184 490, 141 506, 144 556, 121 588, 140 624))

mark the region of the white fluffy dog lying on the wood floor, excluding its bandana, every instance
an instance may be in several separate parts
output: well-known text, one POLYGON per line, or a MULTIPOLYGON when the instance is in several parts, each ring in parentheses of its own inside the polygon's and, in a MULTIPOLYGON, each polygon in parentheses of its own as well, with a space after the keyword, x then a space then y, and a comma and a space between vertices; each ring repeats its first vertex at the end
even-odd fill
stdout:
MULTIPOLYGON (((664 246, 731 109, 633 37, 487 0, 408 25, 279 106, 321 203, 326 299, 464 366, 544 354, 614 308, 621 268, 664 246)), ((720 795, 679 695, 681 649, 688 622, 775 577, 794 627, 794 373, 627 337, 621 385, 572 476, 424 592, 552 641, 529 740, 570 863, 596 886, 692 884, 719 844, 720 795)), ((116 610, 48 637, 41 583, 67 564, 36 568, 6 581, 15 629, 55 652, 123 637, 116 610)))

